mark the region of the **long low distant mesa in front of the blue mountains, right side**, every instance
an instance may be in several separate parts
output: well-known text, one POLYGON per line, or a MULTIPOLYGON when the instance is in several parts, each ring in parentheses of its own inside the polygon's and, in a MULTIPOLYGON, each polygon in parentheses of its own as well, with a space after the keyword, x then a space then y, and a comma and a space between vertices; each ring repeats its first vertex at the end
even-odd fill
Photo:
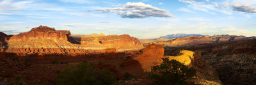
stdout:
POLYGON ((187 36, 182 38, 173 38, 173 39, 163 39, 157 38, 154 40, 141 40, 143 45, 147 43, 157 43, 162 44, 163 46, 182 46, 182 45, 196 45, 204 43, 221 43, 221 42, 232 42, 232 41, 241 41, 246 40, 246 36, 229 36, 229 35, 220 35, 220 36, 187 36))

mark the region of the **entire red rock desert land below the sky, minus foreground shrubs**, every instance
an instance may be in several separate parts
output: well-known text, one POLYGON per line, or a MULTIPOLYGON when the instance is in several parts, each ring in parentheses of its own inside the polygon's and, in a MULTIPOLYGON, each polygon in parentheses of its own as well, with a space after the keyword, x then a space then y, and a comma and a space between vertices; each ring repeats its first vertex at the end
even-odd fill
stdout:
POLYGON ((256 38, 246 36, 184 36, 138 40, 129 35, 72 35, 39 26, 18 35, 1 33, 1 83, 56 84, 68 66, 86 61, 107 69, 115 84, 148 84, 145 72, 162 58, 175 59, 196 70, 189 84, 255 84, 256 38))

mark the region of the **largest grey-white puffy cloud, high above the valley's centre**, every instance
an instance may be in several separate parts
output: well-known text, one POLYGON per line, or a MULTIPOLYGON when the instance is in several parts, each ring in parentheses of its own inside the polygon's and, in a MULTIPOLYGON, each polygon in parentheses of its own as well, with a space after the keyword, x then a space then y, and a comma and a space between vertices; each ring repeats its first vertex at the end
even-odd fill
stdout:
POLYGON ((167 10, 159 9, 145 3, 126 3, 118 5, 116 8, 104 8, 98 11, 104 13, 117 13, 122 18, 143 19, 146 17, 172 17, 167 10))

